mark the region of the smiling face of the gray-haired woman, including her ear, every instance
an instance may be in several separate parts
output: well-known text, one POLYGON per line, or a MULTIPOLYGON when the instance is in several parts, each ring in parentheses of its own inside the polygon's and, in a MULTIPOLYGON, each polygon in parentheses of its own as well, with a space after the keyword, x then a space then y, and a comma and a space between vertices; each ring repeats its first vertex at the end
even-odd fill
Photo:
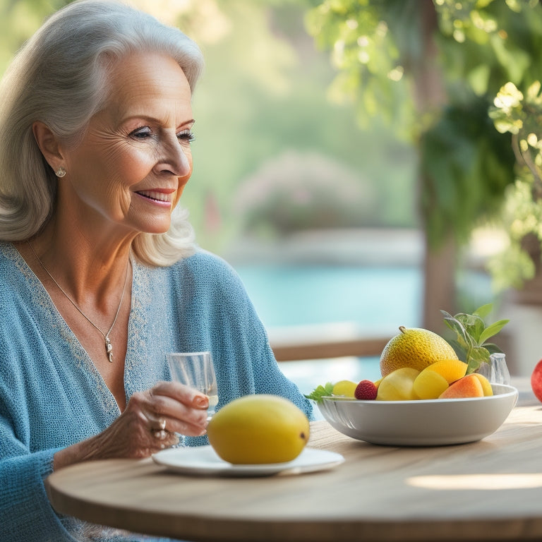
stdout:
POLYGON ((163 54, 128 56, 111 74, 107 107, 63 149, 59 205, 92 228, 163 233, 192 173, 190 86, 163 54))

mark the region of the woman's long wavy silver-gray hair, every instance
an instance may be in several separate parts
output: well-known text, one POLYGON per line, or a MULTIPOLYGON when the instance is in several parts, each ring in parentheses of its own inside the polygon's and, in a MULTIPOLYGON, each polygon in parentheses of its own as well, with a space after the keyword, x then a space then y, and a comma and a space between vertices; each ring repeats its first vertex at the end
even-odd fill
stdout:
MULTIPOLYGON (((198 46, 177 28, 114 0, 78 0, 54 13, 18 52, 0 85, 0 239, 24 241, 54 214, 56 176, 32 133, 42 121, 77 145, 108 97, 107 68, 135 52, 163 52, 176 60, 190 88, 203 69, 198 46)), ((170 265, 193 252, 184 210, 165 234, 139 234, 135 256, 170 265)))

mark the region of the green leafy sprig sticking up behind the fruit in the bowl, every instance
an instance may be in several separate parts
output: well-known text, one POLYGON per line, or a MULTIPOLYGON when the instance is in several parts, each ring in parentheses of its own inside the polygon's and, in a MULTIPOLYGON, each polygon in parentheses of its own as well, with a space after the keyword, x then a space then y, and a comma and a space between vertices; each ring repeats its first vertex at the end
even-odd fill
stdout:
POLYGON ((488 303, 472 314, 458 313, 452 316, 446 311, 440 311, 446 325, 455 332, 456 339, 450 341, 450 344, 466 363, 466 374, 474 373, 482 363, 489 363, 490 354, 501 351, 496 344, 487 340, 497 335, 510 320, 498 320, 486 327, 483 319, 492 309, 493 303, 488 303))

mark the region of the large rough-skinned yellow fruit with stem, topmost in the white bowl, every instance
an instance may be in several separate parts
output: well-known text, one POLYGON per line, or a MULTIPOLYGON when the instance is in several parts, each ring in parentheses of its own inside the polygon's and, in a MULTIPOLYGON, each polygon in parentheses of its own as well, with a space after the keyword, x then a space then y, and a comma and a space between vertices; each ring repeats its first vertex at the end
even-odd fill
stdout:
POLYGON ((419 327, 399 327, 380 356, 380 373, 389 375, 397 369, 409 367, 423 371, 435 361, 457 359, 454 349, 440 335, 419 327))

